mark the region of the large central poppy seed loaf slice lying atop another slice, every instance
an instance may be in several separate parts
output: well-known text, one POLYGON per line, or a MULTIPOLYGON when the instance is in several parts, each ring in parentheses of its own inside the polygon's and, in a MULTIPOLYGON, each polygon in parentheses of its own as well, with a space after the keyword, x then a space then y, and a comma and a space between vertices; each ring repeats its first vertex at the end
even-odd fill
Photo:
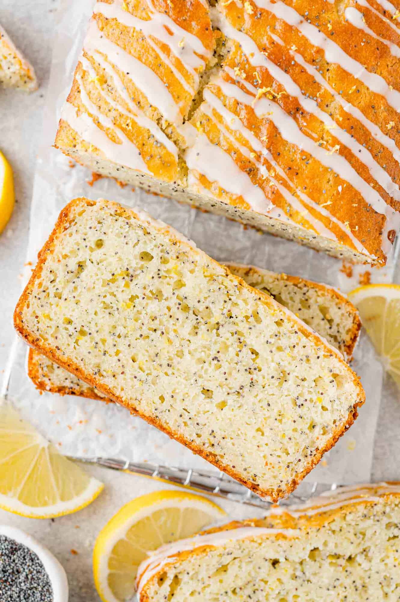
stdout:
POLYGON ((339 353, 147 214, 75 199, 14 312, 32 346, 264 497, 353 423, 339 353))

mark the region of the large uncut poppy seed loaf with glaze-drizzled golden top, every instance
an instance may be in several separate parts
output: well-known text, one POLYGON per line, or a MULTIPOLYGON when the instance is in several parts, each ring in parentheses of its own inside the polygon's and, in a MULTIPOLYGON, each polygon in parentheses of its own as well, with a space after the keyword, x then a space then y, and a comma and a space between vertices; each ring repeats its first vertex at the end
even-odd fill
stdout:
POLYGON ((396 7, 215 4, 96 2, 55 146, 102 175, 384 264, 400 225, 396 7))

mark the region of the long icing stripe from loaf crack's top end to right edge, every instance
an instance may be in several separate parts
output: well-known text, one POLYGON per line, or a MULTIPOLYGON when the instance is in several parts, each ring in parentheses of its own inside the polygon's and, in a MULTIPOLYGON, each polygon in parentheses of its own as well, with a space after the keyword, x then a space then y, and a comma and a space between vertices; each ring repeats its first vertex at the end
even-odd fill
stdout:
MULTIPOLYGON (((286 92, 288 92, 289 95, 297 98, 302 107, 308 111, 308 113, 314 114, 316 117, 318 117, 318 119, 320 119, 327 128, 334 128, 336 126, 338 129, 335 131, 335 137, 345 144, 345 146, 347 146, 348 149, 350 149, 354 155, 356 155, 356 157, 359 158, 359 160, 362 161, 366 167, 368 167, 371 176, 384 188, 384 190, 386 190, 387 193, 391 194, 393 197, 395 197, 395 199, 400 200, 400 190, 398 185, 392 181, 388 173, 380 166, 380 164, 377 163, 377 161, 375 161, 368 149, 359 144, 357 140, 348 134, 348 132, 345 132, 344 129, 337 126, 332 117, 318 107, 318 104, 316 101, 314 101, 314 99, 303 95, 302 90, 293 81, 291 76, 280 69, 280 67, 273 63, 267 56, 265 56, 265 54, 260 52, 256 43, 253 42, 249 36, 241 31, 237 31, 237 29, 228 23, 225 17, 223 17, 220 13, 217 14, 218 16, 216 17, 216 11, 213 11, 213 19, 216 20, 223 34, 230 39, 235 39, 240 44, 250 63, 255 67, 267 67, 273 78, 286 89, 286 92)), ((350 167, 350 165, 348 165, 348 167, 350 167)), ((384 209, 382 204, 384 203, 383 199, 379 197, 376 191, 373 191, 373 193, 375 198, 379 199, 378 202, 381 205, 381 209, 377 209, 377 205, 375 203, 375 210, 379 211, 380 213, 384 213, 386 209, 384 209)), ((371 191, 367 194, 365 188, 365 192, 363 194, 365 194, 365 197, 368 198, 369 195, 371 195, 371 191)))

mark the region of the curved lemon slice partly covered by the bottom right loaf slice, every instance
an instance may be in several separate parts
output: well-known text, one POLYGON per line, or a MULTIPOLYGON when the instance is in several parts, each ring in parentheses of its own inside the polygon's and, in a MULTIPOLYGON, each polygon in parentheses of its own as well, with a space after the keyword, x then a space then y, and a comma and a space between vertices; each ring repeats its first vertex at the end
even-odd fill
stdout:
POLYGON ((181 491, 156 491, 123 506, 98 535, 94 583, 103 602, 132 600, 138 566, 162 544, 194 535, 226 513, 212 501, 181 491))

